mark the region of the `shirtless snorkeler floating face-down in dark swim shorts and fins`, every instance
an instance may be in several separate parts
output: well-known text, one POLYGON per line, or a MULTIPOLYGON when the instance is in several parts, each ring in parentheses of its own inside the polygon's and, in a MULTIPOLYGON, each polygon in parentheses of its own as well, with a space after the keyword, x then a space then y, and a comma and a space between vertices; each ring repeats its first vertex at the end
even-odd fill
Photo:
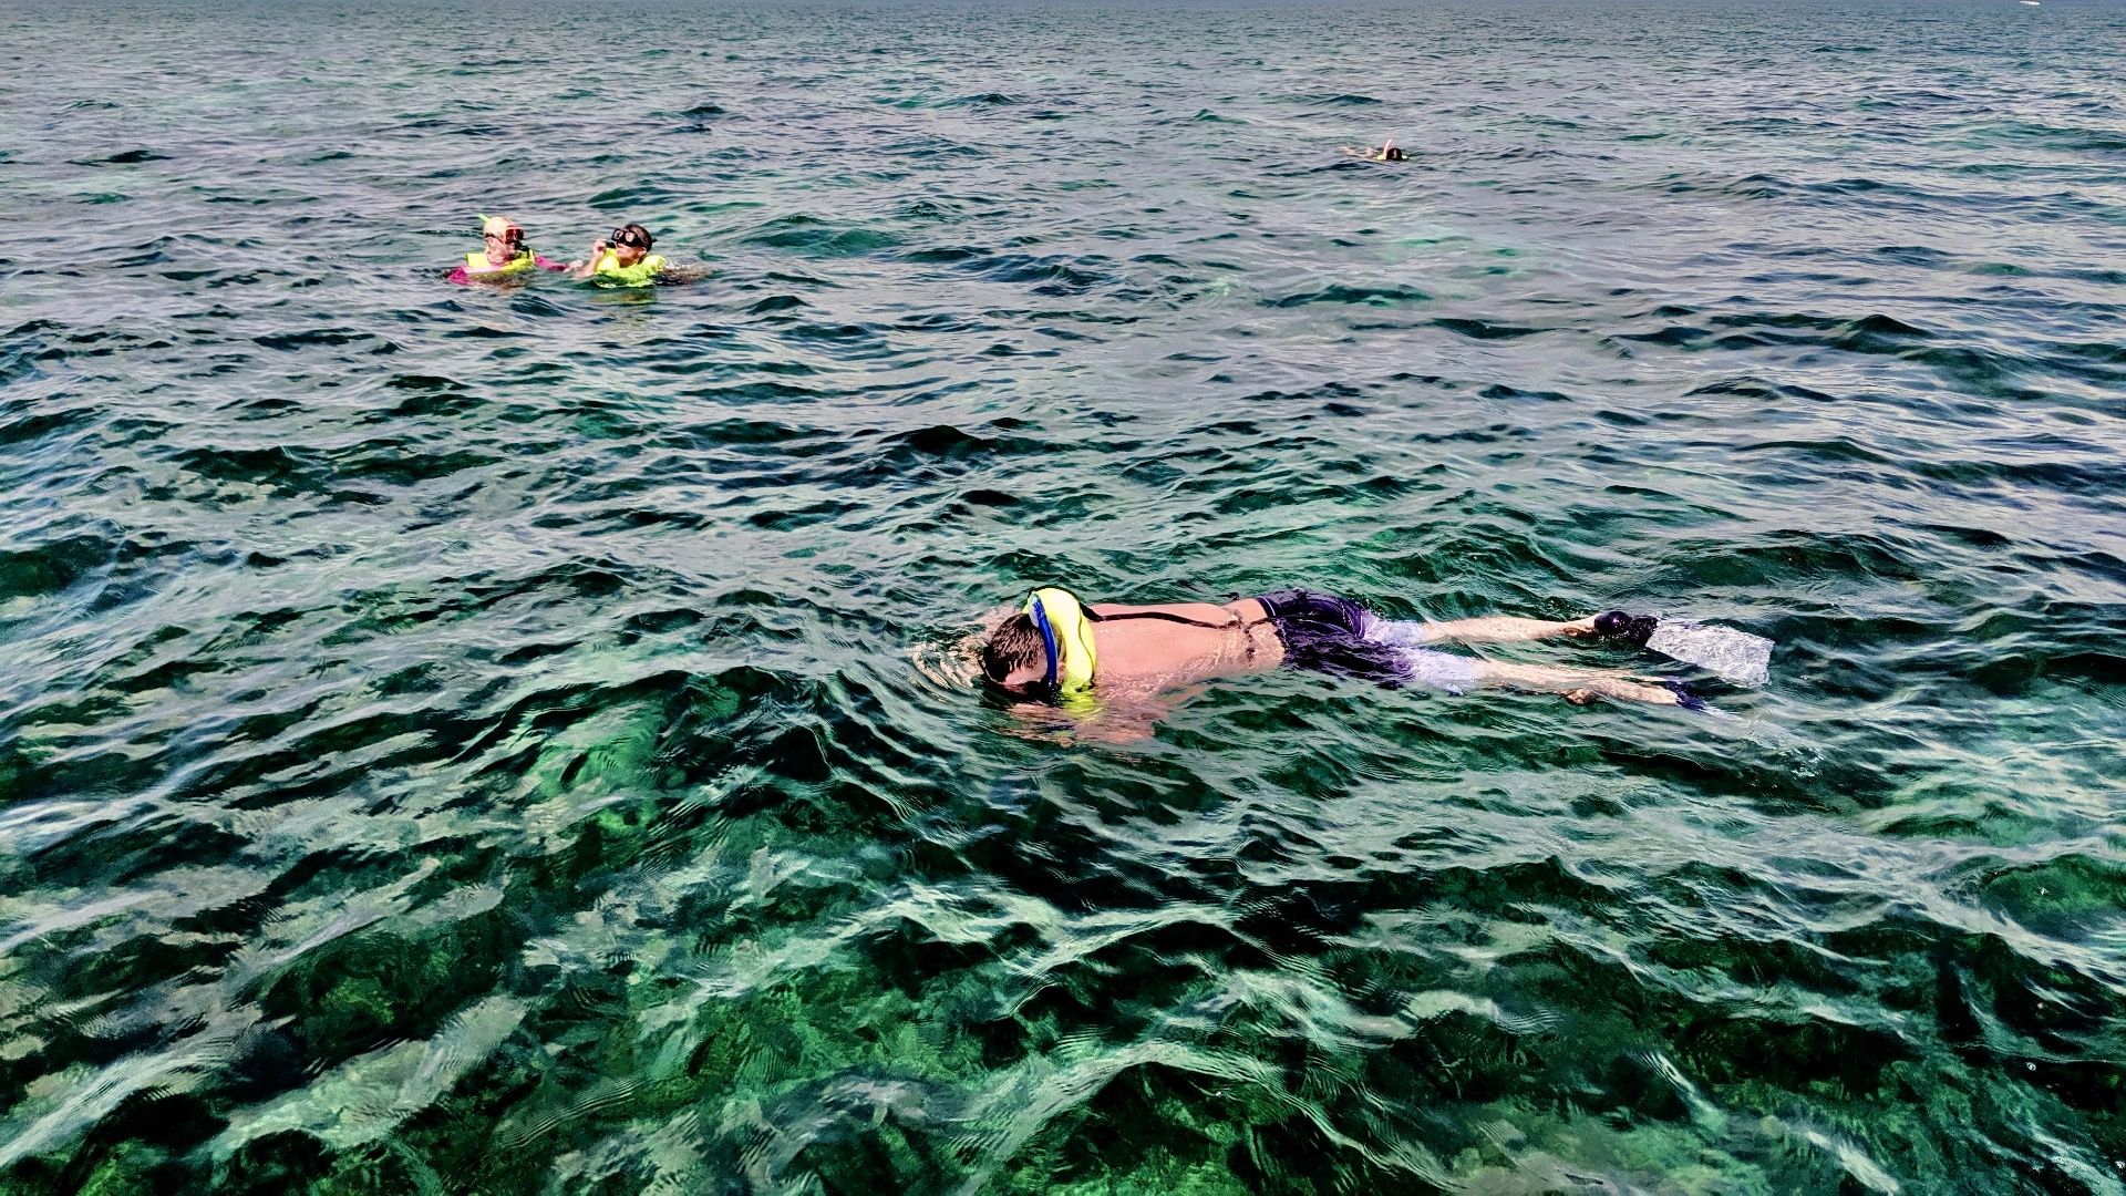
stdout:
MULTIPOLYGON (((1605 611, 1569 624, 1482 617, 1446 624, 1382 619, 1350 598, 1312 589, 1280 589, 1225 604, 1171 602, 1131 607, 1084 604, 1069 589, 1035 589, 1014 613, 993 615, 967 645, 980 679, 1020 702, 1052 702, 1091 711, 1097 698, 1144 702, 1214 677, 1301 668, 1376 681, 1388 687, 1427 685, 1461 694, 1505 687, 1652 707, 1705 709, 1675 681, 1624 672, 1509 664, 1435 651, 1448 643, 1524 643, 1558 636, 1646 647, 1652 615, 1605 611)), ((1726 628, 1714 628, 1728 632, 1726 628)), ((1748 636, 1748 632, 1728 632, 1748 636)), ((1760 641, 1767 645, 1769 641, 1760 641)))

